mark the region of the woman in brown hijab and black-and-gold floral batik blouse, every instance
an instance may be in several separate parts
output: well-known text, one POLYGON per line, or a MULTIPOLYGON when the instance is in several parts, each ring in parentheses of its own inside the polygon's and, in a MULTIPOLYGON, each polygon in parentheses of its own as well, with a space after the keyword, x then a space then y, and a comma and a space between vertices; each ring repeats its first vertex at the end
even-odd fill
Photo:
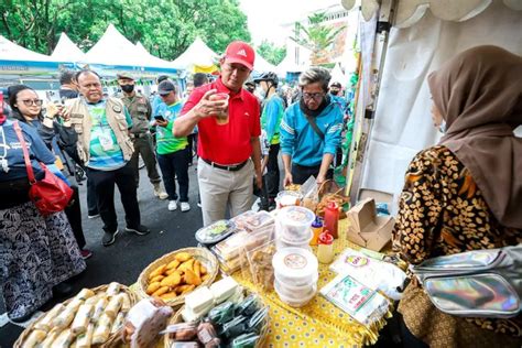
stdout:
MULTIPOLYGON (((412 264, 522 242, 522 57, 467 50, 428 76, 439 144, 411 162, 393 247, 412 264)), ((399 304, 407 347, 520 347, 522 318, 438 311, 412 279, 399 304)))

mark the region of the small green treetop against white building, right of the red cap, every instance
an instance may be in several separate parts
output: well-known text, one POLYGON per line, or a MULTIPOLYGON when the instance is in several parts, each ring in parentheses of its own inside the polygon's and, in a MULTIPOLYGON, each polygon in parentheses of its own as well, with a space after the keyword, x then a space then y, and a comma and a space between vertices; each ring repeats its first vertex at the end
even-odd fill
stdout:
POLYGON ((331 28, 325 25, 325 12, 317 12, 308 17, 308 25, 295 23, 294 36, 290 37, 297 44, 312 51, 312 63, 315 64, 322 52, 328 48, 335 41, 336 36, 345 30, 345 25, 340 28, 331 28))

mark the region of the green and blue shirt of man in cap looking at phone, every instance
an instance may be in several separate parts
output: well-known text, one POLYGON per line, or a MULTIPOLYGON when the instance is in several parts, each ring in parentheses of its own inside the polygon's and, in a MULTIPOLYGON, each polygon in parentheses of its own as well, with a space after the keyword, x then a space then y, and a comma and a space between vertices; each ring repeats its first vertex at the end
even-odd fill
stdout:
POLYGON ((175 138, 172 134, 172 129, 174 127, 174 120, 180 116, 182 111, 183 104, 177 101, 173 105, 167 106, 162 104, 157 109, 157 115, 163 116, 163 118, 168 121, 166 127, 156 127, 156 151, 157 154, 168 154, 180 150, 185 149, 188 145, 187 138, 181 137, 175 138))

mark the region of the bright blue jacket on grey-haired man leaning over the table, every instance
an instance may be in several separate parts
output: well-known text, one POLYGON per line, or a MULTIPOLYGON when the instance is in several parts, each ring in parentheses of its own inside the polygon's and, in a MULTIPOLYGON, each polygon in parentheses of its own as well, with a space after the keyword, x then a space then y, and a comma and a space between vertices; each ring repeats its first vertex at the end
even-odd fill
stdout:
POLYGON ((342 112, 339 106, 330 102, 315 120, 325 134, 324 140, 308 123, 298 102, 291 105, 284 112, 281 121, 281 151, 291 155, 293 163, 319 165, 325 153, 335 154, 340 145, 342 112))

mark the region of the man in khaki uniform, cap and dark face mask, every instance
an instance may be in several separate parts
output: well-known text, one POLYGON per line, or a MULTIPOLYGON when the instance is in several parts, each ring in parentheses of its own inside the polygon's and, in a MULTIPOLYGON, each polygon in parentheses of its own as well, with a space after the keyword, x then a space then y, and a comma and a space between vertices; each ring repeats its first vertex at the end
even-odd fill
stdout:
POLYGON ((135 173, 137 185, 140 181, 138 168, 139 156, 145 163, 149 180, 154 186, 154 196, 166 199, 168 195, 161 188, 161 177, 156 168, 156 159, 152 146, 152 137, 149 131, 149 122, 152 116, 152 107, 149 99, 141 93, 134 90, 134 78, 128 73, 118 74, 118 85, 121 88, 119 98, 123 101, 132 117, 132 128, 130 137, 134 144, 134 153, 131 157, 131 165, 135 173))

